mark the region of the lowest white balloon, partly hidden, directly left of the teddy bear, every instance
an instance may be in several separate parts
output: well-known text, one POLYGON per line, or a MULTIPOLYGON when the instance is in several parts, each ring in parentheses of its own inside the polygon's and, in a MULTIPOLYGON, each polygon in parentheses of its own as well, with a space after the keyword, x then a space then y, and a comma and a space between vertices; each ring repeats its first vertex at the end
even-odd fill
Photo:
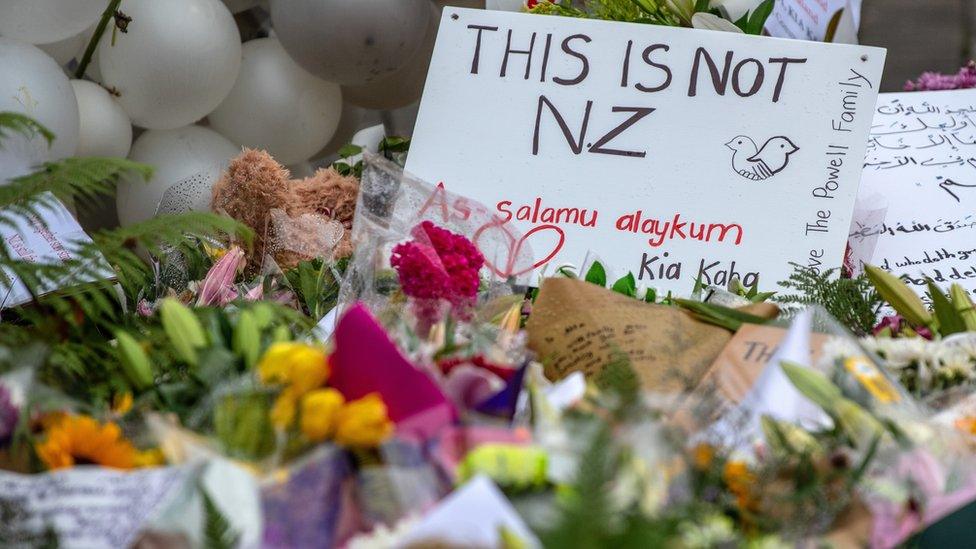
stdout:
MULTIPOLYGON (((141 178, 119 182, 119 223, 128 226, 150 219, 156 214, 163 193, 175 183, 197 174, 213 180, 240 152, 224 136, 200 126, 150 130, 140 135, 132 145, 129 159, 150 164, 156 171, 148 183, 141 178)), ((203 194, 209 196, 209 192, 203 194)), ((206 204, 197 204, 196 209, 206 209, 206 204)))

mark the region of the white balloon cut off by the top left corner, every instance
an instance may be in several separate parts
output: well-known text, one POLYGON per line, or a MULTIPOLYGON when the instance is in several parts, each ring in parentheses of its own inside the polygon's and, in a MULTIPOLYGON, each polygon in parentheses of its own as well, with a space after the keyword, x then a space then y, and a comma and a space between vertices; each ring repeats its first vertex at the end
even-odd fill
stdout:
POLYGON ((31 44, 50 44, 91 26, 106 0, 0 0, 0 35, 31 44))

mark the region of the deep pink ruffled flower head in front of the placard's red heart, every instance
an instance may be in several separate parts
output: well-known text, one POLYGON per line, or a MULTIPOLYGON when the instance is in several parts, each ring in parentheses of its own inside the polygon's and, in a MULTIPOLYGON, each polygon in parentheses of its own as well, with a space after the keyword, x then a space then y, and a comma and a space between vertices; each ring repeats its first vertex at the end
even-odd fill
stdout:
POLYGON ((390 257, 403 293, 417 299, 444 299, 462 312, 478 296, 484 256, 464 236, 430 221, 414 227, 413 237, 395 246, 390 257))

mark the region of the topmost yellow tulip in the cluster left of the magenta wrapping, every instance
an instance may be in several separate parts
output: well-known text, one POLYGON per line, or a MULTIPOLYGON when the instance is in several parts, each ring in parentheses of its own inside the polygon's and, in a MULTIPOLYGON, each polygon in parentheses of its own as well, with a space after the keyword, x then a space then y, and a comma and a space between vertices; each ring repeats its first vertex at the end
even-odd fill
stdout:
POLYGON ((262 383, 287 384, 296 396, 317 389, 329 378, 329 359, 319 347, 305 343, 275 343, 258 363, 262 383))

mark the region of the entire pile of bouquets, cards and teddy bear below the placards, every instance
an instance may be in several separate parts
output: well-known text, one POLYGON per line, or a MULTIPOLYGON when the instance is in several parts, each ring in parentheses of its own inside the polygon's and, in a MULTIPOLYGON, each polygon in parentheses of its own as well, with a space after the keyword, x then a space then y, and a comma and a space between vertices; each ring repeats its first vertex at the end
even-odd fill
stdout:
MULTIPOLYGON (((926 304, 868 266, 798 268, 788 292, 662 295, 595 256, 530 278, 520 235, 471 201, 447 215, 459 197, 404 174, 405 149, 387 140, 316 174, 298 231, 274 224, 297 207, 275 198, 292 196, 287 170, 246 151, 211 213, 103 231, 57 264, 3 242, 0 286, 32 299, 0 323, 0 545, 971 538, 964 289, 931 283, 926 304), (264 201, 229 206, 248 193, 264 201), (614 309, 646 336, 622 337, 636 328, 614 309), (760 334, 761 360, 724 361, 760 334)), ((124 172, 149 170, 49 164, 0 187, 0 223, 84 208, 124 172)))

